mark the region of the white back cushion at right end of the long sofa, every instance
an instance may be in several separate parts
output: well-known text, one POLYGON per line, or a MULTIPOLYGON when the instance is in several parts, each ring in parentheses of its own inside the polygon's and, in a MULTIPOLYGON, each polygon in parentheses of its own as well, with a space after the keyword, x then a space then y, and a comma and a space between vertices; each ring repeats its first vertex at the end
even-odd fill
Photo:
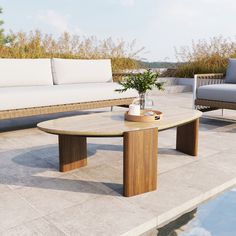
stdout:
POLYGON ((54 84, 112 82, 111 60, 52 59, 54 84))

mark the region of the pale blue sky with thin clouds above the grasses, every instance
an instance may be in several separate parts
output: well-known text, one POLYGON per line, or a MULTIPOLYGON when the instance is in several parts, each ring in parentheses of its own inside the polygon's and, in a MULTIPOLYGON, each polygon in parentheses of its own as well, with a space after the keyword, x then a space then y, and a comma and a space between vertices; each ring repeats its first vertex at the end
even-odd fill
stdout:
POLYGON ((192 40, 235 38, 235 0, 0 0, 5 29, 112 37, 145 47, 149 61, 175 60, 192 40))

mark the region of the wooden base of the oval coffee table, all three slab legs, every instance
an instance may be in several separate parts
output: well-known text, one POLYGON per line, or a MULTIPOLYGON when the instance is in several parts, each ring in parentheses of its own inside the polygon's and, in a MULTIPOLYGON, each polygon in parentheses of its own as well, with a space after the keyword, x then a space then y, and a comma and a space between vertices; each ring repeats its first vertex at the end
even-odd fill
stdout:
MULTIPOLYGON (((177 127, 176 149, 196 156, 199 119, 177 127)), ((158 129, 129 131, 123 137, 123 190, 130 197, 157 188, 158 129)), ((59 135, 60 171, 87 165, 86 137, 59 135)))

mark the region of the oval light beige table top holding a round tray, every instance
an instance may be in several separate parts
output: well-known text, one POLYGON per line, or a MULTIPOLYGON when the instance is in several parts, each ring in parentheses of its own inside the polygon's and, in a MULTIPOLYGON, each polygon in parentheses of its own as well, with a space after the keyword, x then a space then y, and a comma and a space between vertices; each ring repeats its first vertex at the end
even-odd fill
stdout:
POLYGON ((165 130, 189 123, 202 116, 193 109, 162 110, 163 118, 152 123, 130 122, 124 120, 125 111, 102 112, 58 118, 39 123, 37 126, 51 134, 78 135, 86 137, 121 137, 125 132, 158 128, 165 130))

